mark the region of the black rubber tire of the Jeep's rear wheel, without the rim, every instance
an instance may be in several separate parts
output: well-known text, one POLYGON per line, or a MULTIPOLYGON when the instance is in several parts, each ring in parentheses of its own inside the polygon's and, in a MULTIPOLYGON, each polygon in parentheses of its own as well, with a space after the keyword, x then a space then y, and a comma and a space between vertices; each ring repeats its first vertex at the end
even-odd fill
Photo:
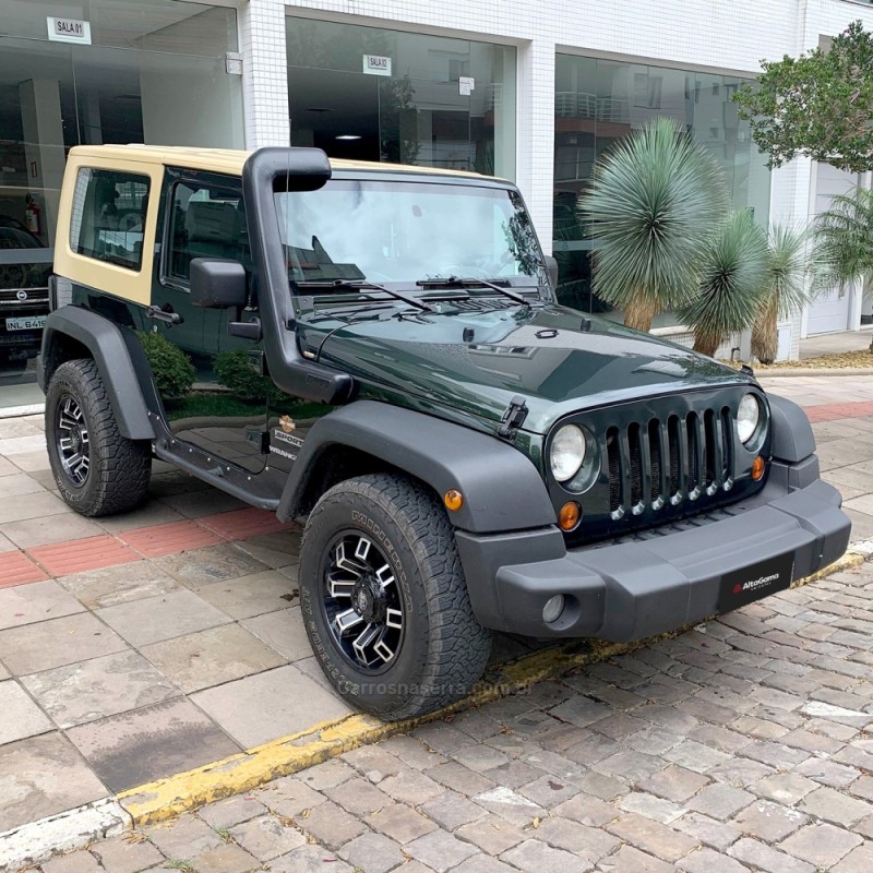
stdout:
POLYGON ((46 393, 46 445, 60 495, 82 515, 127 512, 145 499, 152 444, 121 435, 93 360, 67 361, 52 374, 46 393), (59 444, 60 415, 70 398, 81 410, 89 453, 86 477, 79 483, 65 470, 59 444))

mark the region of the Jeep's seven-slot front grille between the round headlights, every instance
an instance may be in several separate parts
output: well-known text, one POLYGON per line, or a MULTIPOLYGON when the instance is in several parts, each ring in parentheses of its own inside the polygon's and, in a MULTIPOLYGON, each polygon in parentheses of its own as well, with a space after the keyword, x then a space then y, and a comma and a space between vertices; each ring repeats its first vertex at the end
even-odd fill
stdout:
POLYGON ((605 450, 612 519, 730 491, 731 433, 727 406, 609 428, 605 450))

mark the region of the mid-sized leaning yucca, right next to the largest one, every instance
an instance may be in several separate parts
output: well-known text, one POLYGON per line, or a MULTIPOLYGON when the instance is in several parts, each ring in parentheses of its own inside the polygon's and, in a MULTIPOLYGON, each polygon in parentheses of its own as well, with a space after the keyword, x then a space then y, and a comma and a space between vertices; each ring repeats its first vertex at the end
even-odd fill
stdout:
POLYGON ((713 357, 732 333, 749 327, 767 279, 767 235, 748 210, 734 212, 711 235, 699 262, 699 292, 679 310, 694 331, 694 350, 713 357))

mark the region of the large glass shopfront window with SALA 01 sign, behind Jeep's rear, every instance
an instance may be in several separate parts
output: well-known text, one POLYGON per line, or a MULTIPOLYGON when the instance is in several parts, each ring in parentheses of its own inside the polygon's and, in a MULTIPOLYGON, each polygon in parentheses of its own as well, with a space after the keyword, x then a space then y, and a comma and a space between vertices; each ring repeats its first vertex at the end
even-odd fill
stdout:
MULTIPOLYGON (((71 8, 53 0, 4 0, 0 406, 41 399, 36 387, 27 394, 26 383, 34 380, 47 311, 68 151, 143 142, 242 147, 241 81, 227 73, 225 60, 238 48, 236 11, 208 3, 89 0, 71 8), (53 17, 83 20, 89 41, 49 38, 53 17)), ((119 190, 117 203, 124 205, 132 190, 119 190)))

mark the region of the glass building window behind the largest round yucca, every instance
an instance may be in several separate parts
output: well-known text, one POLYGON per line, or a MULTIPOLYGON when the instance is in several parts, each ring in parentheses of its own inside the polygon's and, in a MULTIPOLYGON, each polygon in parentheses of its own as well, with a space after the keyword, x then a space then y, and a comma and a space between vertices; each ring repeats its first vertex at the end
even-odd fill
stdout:
MULTIPOLYGON (((554 94, 554 239, 559 298, 585 312, 609 312, 591 292, 591 238, 578 196, 595 160, 617 140, 658 116, 674 118, 721 166, 733 208, 769 215, 769 170, 737 116, 731 95, 748 80, 668 67, 558 55, 554 94)), ((618 314, 618 313, 617 313, 618 314)), ((662 313, 655 326, 672 323, 662 313)))

